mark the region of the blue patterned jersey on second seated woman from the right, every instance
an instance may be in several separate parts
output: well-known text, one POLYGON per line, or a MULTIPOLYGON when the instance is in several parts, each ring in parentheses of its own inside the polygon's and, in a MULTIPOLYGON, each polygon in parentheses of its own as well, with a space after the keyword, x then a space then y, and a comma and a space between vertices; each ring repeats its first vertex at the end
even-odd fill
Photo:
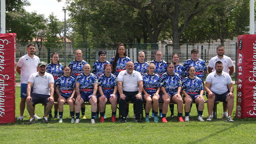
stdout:
MULTIPOLYGON (((161 77, 161 83, 160 86, 164 87, 167 94, 172 97, 177 94, 178 87, 181 87, 182 82, 177 73, 174 73, 173 75, 169 75, 168 72, 164 73, 161 77)), ((164 94, 162 94, 163 96, 164 94)))

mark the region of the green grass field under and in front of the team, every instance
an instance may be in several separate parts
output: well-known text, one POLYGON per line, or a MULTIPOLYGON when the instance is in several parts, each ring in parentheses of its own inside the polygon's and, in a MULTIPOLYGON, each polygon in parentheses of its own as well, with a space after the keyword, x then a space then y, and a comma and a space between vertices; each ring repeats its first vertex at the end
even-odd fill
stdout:
MULTIPOLYGON (((19 102, 20 88, 16 87, 16 118, 19 117, 19 102)), ((43 111, 44 107, 37 104, 36 114, 42 117, 43 111)), ((134 122, 132 118, 128 118, 127 123, 120 123, 119 120, 113 123, 111 108, 107 105, 108 118, 105 123, 100 123, 99 119, 96 119, 96 124, 91 124, 90 106, 86 106, 87 119, 80 120, 79 124, 71 124, 71 119, 68 119, 69 108, 65 105, 63 123, 58 123, 58 119, 52 119, 48 124, 38 121, 32 125, 25 125, 24 123, 29 121, 25 109, 23 121, 0 125, 0 143, 256 143, 255 119, 238 119, 233 112, 234 122, 225 121, 222 119, 222 104, 218 104, 217 119, 211 122, 206 121, 207 104, 204 108, 204 122, 197 121, 195 105, 192 107, 189 122, 178 122, 176 106, 174 113, 175 117, 170 117, 168 111, 166 118, 168 123, 162 123, 162 119, 159 119, 159 123, 154 123, 153 119, 150 119, 150 123, 141 124, 134 122)), ((130 104, 130 116, 132 115, 132 104, 130 104)))

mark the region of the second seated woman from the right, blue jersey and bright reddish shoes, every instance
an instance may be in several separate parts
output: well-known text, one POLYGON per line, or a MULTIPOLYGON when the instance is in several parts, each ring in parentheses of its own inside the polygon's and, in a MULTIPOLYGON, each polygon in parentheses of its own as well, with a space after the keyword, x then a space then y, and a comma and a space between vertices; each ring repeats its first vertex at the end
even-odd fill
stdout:
POLYGON ((170 103, 170 100, 177 103, 178 117, 180 121, 183 121, 183 102, 180 96, 182 83, 178 74, 174 73, 175 64, 176 63, 168 63, 168 72, 164 73, 161 77, 160 85, 163 92, 161 99, 164 101, 162 121, 164 123, 167 123, 166 113, 168 112, 168 105, 170 103))

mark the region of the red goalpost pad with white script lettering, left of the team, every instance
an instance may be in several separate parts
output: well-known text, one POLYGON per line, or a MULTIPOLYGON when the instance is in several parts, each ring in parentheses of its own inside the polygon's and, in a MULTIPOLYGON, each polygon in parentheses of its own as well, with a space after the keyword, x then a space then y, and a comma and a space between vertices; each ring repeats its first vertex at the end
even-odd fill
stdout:
POLYGON ((15 123, 15 37, 0 34, 0 123, 15 123))

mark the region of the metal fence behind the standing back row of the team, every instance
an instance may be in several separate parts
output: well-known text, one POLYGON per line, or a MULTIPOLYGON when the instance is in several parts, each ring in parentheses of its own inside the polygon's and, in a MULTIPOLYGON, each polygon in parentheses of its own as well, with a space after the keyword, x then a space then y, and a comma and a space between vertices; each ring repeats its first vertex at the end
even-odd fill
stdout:
MULTIPOLYGON (((178 44, 178 47, 174 48, 174 44, 166 45, 166 44, 138 44, 138 43, 124 43, 126 47, 126 52, 128 57, 133 62, 137 61, 138 52, 145 52, 145 61, 152 61, 155 56, 155 52, 157 50, 161 50, 164 61, 171 61, 172 54, 178 53, 180 56, 180 64, 191 58, 190 51, 193 48, 197 48, 199 50, 199 58, 203 59, 208 66, 210 59, 216 56, 216 48, 218 44, 178 44)), ((27 44, 18 44, 16 46, 16 65, 19 61, 19 58, 25 54, 27 54, 27 44)), ((59 62, 64 66, 68 65, 69 62, 73 61, 75 57, 75 50, 82 50, 82 59, 87 61, 92 67, 94 61, 99 60, 98 52, 100 50, 106 50, 106 60, 110 61, 113 56, 115 56, 115 52, 117 49, 117 43, 87 43, 86 44, 67 44, 66 48, 64 44, 58 44, 58 48, 45 48, 42 46, 42 49, 39 50, 38 46, 36 46, 35 55, 40 58, 40 61, 44 61, 46 63, 51 62, 51 53, 58 52, 59 53, 59 62), (66 54, 66 55, 65 55, 66 54), (66 59, 66 63, 65 63, 66 59)), ((236 50, 237 44, 225 44, 225 55, 229 56, 236 66, 236 50)), ((236 83, 236 67, 234 73, 231 75, 233 83, 236 83)), ((16 86, 20 86, 20 75, 16 73, 16 86)))

